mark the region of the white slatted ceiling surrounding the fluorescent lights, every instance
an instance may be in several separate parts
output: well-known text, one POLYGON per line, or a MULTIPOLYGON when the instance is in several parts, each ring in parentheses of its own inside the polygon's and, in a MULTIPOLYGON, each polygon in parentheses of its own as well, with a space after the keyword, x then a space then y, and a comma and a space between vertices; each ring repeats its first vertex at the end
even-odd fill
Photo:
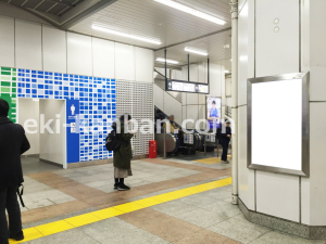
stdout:
MULTIPOLYGON (((180 64, 187 62, 187 52, 184 51, 186 46, 208 51, 212 63, 229 60, 230 48, 223 48, 224 44, 230 44, 230 30, 223 31, 230 27, 229 0, 175 1, 222 18, 226 21, 226 24, 217 25, 153 0, 118 0, 77 23, 70 30, 153 50, 173 46, 167 48, 167 57, 177 60, 180 64), (161 40, 162 44, 156 46, 93 30, 92 24, 100 24, 121 33, 158 39, 161 40), (212 35, 218 30, 222 33, 212 35), (205 35, 208 37, 199 38, 205 35), (174 46, 176 43, 180 44, 174 46)), ((156 56, 164 56, 163 49, 155 51, 156 56)), ((190 54, 191 63, 202 62, 206 59, 206 56, 190 54)))

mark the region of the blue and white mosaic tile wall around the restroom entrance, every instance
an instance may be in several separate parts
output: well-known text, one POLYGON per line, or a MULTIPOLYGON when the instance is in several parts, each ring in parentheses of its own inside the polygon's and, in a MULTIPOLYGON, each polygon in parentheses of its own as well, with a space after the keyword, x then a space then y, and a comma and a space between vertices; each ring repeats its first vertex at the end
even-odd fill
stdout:
POLYGON ((17 98, 79 102, 80 162, 113 157, 104 139, 116 118, 115 91, 115 79, 17 68, 17 98))

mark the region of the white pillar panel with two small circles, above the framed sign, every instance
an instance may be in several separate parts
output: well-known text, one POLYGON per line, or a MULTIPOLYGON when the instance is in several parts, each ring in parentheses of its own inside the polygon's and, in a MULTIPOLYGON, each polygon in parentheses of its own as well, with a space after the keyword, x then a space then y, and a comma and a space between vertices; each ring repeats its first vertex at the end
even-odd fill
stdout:
POLYGON ((299 1, 256 1, 256 76, 299 72, 299 1), (279 24, 274 20, 279 18, 279 24), (279 31, 274 28, 278 26, 279 31))

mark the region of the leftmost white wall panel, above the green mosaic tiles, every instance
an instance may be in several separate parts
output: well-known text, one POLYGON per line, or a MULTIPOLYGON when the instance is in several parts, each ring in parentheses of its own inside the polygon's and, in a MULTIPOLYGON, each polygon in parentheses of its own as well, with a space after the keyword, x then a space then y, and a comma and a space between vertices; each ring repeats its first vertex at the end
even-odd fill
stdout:
POLYGON ((14 18, 0 16, 0 66, 14 67, 15 30, 14 18))

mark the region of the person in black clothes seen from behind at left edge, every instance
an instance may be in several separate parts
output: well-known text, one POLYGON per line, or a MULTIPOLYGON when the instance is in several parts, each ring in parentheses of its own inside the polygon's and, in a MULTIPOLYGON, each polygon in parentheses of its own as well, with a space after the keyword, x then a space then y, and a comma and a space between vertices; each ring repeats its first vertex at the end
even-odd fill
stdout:
POLYGON ((16 192, 24 182, 21 155, 30 147, 24 128, 8 118, 9 108, 0 99, 0 244, 8 244, 9 239, 24 240, 16 192))

